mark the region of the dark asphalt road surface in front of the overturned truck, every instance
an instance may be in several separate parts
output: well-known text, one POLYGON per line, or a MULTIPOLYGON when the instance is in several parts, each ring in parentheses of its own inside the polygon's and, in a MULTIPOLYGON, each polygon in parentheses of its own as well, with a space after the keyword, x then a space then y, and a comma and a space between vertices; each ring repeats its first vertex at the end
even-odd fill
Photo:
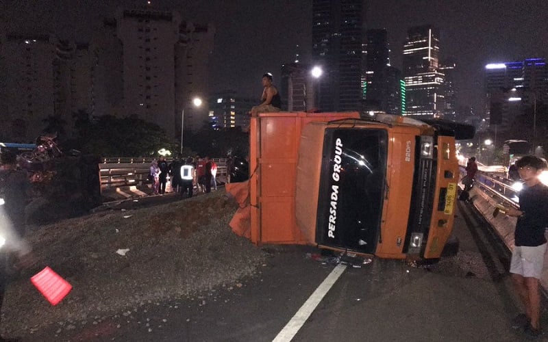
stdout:
MULTIPOLYGON (((506 247, 465 202, 454 235, 460 252, 434 265, 340 263, 310 246, 263 246, 260 274, 236 287, 151 303, 77 328, 70 341, 525 340, 510 326, 521 311, 506 247)), ((541 321, 548 326, 545 310, 541 321)))

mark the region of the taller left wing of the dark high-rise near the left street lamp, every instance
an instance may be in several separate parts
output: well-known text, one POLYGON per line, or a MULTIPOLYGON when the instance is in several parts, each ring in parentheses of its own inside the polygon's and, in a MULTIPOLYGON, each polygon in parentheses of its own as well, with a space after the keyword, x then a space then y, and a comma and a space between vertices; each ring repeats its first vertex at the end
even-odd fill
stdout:
POLYGON ((116 33, 123 47, 125 114, 158 124, 175 137, 175 44, 177 12, 121 9, 116 33))

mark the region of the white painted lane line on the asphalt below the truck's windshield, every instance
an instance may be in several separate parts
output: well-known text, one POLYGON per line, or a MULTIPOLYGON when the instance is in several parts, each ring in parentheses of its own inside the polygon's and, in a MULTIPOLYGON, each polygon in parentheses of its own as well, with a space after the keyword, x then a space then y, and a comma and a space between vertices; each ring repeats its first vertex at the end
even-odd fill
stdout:
POLYGON ((323 297, 325 297, 327 292, 329 292, 329 289, 333 287, 340 275, 345 272, 346 268, 347 265, 338 264, 332 272, 329 273, 329 276, 327 276, 316 291, 310 295, 310 298, 308 298, 303 306, 299 308, 299 311, 295 313, 295 316, 293 316, 292 319, 288 321, 288 324, 284 326, 282 331, 277 334, 275 339, 273 339, 273 342, 288 342, 295 337, 295 334, 301 329, 308 317, 312 315, 316 306, 320 304, 323 297))

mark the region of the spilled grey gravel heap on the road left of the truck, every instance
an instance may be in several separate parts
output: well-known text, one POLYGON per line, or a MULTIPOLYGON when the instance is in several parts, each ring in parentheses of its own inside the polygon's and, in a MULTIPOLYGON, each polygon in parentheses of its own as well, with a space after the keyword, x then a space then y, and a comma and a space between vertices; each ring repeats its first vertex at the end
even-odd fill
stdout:
MULTIPOLYGON (((266 253, 232 233, 236 202, 223 191, 144 209, 110 210, 35 227, 36 263, 14 274, 1 330, 32 336, 51 324, 108 316, 143 303, 230 287, 266 253), (117 254, 127 250, 125 255, 117 254), (73 285, 57 306, 29 278, 45 266, 73 285)), ((123 254, 123 253, 122 253, 123 254)))

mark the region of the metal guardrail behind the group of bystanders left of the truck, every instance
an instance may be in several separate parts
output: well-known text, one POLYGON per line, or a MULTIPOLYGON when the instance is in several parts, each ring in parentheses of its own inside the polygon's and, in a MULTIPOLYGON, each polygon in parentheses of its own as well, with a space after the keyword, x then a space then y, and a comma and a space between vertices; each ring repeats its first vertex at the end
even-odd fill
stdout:
MULTIPOLYGON (((99 164, 101 189, 148 184, 153 158, 105 158, 99 164)), ((166 158, 167 160, 167 158, 166 158)), ((214 158, 217 163, 216 178, 227 175, 226 159, 214 158)), ((169 160, 170 161, 170 160, 169 160)))

